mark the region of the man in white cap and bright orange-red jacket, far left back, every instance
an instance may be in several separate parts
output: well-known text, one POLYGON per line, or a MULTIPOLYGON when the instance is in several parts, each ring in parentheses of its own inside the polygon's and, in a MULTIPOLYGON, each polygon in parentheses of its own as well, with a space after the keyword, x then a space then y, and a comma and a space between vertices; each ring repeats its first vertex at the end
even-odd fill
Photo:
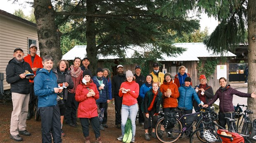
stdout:
MULTIPOLYGON (((33 73, 36 75, 36 70, 39 68, 43 68, 42 58, 40 58, 36 54, 36 51, 37 51, 36 44, 31 44, 29 46, 29 51, 30 51, 30 54, 24 57, 24 61, 30 65, 31 69, 33 70, 33 73)), ((30 94, 29 94, 27 120, 30 120, 31 117, 33 116, 34 104, 36 103, 36 96, 34 92, 34 81, 29 80, 29 85, 30 85, 30 94)))

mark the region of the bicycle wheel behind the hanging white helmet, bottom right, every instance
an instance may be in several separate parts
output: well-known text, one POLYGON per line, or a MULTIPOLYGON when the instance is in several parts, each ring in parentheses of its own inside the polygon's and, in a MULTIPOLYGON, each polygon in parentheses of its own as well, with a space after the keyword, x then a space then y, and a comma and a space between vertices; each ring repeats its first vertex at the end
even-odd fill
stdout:
POLYGON ((211 134, 213 134, 215 136, 215 138, 217 138, 216 143, 218 143, 218 142, 220 143, 216 129, 210 128, 210 127, 202 127, 202 128, 194 130, 192 132, 192 134, 190 135, 190 143, 209 143, 209 141, 207 141, 203 136, 203 133, 206 130, 209 130, 211 132, 211 134))

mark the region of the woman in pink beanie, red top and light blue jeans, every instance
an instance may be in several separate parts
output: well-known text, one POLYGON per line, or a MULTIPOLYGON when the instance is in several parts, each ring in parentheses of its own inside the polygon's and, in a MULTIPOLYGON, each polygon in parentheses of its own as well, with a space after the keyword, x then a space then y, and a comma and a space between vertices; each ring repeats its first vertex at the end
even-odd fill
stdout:
POLYGON ((126 71, 126 80, 121 84, 119 89, 119 97, 123 97, 123 103, 121 108, 121 130, 122 135, 117 138, 119 141, 123 140, 125 125, 130 116, 132 123, 132 134, 133 137, 130 142, 135 142, 135 131, 136 131, 136 115, 138 112, 137 97, 139 96, 140 87, 139 84, 135 82, 133 78, 133 72, 128 70, 126 71))

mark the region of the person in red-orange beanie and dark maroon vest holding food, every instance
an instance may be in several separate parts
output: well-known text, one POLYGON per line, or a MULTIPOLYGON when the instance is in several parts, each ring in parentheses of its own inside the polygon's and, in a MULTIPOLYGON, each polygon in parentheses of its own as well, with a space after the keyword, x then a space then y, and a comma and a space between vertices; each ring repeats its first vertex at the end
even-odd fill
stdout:
MULTIPOLYGON (((213 98, 213 88, 207 84, 207 79, 205 75, 199 76, 199 82, 200 84, 195 86, 195 90, 197 92, 197 95, 201 101, 204 102, 204 104, 207 104, 212 98, 213 98)), ((199 113, 200 107, 198 106, 197 102, 193 102, 194 110, 199 113)), ((200 124, 199 127, 203 127, 203 124, 200 124)), ((200 131, 200 136, 204 136, 204 131, 200 131)))

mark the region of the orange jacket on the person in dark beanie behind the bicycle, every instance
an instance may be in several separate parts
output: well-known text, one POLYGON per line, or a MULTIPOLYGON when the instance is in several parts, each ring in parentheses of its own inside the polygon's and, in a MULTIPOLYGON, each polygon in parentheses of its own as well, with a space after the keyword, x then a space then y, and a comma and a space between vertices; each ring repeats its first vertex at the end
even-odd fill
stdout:
POLYGON ((180 96, 178 91, 178 86, 171 80, 169 83, 164 80, 163 84, 160 86, 160 91, 163 93, 163 108, 176 108, 178 106, 177 98, 180 96), (164 94, 167 89, 171 89, 171 97, 166 97, 164 94))

